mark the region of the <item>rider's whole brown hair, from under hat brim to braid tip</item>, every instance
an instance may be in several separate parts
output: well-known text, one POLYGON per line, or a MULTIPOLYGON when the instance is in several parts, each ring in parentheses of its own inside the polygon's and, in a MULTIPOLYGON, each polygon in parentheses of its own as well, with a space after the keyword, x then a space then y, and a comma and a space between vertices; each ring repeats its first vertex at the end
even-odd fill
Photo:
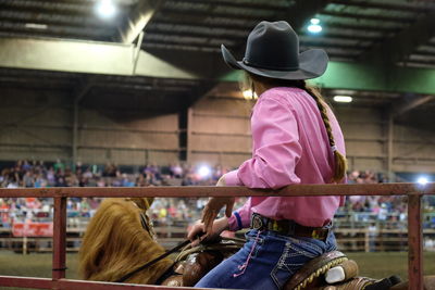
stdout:
POLYGON ((303 89, 314 99, 315 103, 318 104, 320 114, 322 116, 323 124, 325 124, 327 138, 330 139, 330 147, 334 151, 334 173, 332 182, 340 182, 346 176, 347 161, 346 157, 340 152, 338 152, 336 148, 333 135, 333 128, 331 126, 330 117, 327 115, 327 104, 324 101, 323 97, 320 94, 319 90, 308 86, 307 81, 304 80, 274 79, 246 73, 244 86, 248 88, 254 88, 253 81, 259 81, 268 88, 294 87, 303 89))

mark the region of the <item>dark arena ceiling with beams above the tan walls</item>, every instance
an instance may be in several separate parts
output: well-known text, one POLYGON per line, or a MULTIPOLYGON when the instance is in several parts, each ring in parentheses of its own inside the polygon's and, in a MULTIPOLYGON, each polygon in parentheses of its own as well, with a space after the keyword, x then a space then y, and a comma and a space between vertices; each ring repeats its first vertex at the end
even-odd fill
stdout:
MULTIPOLYGON (((428 70, 431 76, 435 72, 433 1, 113 0, 117 12, 112 18, 96 15, 99 1, 0 0, 0 86, 66 89, 73 99, 89 106, 103 103, 116 108, 122 96, 125 106, 179 110, 220 79, 234 80, 222 78, 228 71, 221 61, 220 45, 243 55, 246 37, 260 20, 287 20, 299 31, 302 50, 323 48, 333 62, 356 65, 355 70, 369 63, 373 67, 369 73, 376 71, 373 74, 378 78, 397 70, 415 78, 427 78, 428 70), (321 21, 323 31, 319 35, 307 30, 312 17, 321 21), (60 40, 54 42, 53 38, 60 40), (117 67, 120 73, 51 65, 51 50, 61 45, 78 46, 65 52, 65 59, 85 45, 101 45, 113 51, 132 48, 132 58, 139 55, 141 62, 137 63, 138 72, 135 67, 128 73, 117 67), (47 55, 37 54, 44 58, 34 60, 33 53, 41 50, 40 46, 47 48, 47 55), (137 53, 139 46, 141 52, 137 53), (156 67, 144 68, 147 61, 156 60, 156 67)), ((427 92, 435 92, 432 87, 418 91, 419 86, 398 89, 393 84, 384 89, 384 85, 370 87, 362 80, 345 87, 346 76, 340 75, 341 83, 326 85, 326 96, 345 89, 356 104, 394 104, 394 111, 400 114, 422 104, 425 110, 434 105, 427 98, 427 92), (415 91, 411 97, 406 93, 415 91)), ((394 81, 402 83, 399 77, 394 81)))

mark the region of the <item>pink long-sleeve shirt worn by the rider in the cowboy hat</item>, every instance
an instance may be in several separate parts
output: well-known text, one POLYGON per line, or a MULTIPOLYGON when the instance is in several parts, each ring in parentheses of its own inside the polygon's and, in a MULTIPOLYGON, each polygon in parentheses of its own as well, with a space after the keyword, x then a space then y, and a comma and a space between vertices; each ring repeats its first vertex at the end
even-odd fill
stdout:
MULTIPOLYGON (((334 140, 345 154, 341 129, 327 109, 334 140)), ((302 89, 263 92, 251 116, 252 157, 225 174, 227 186, 277 189, 295 184, 331 184, 334 155, 315 100, 302 89)), ((340 197, 252 197, 229 217, 229 229, 249 227, 258 213, 274 219, 321 227, 344 202, 340 197)))

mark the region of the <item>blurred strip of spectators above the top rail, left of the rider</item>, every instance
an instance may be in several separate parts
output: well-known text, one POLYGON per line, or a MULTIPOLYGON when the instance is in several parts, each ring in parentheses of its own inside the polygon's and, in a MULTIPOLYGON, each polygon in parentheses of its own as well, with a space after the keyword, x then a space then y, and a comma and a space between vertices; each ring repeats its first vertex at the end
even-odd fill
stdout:
POLYGON ((14 166, 0 169, 0 187, 144 187, 171 182, 197 186, 213 185, 226 173, 221 166, 212 168, 181 163, 169 166, 148 164, 129 174, 111 163, 102 167, 77 163, 73 167, 60 160, 51 164, 18 161, 14 166))

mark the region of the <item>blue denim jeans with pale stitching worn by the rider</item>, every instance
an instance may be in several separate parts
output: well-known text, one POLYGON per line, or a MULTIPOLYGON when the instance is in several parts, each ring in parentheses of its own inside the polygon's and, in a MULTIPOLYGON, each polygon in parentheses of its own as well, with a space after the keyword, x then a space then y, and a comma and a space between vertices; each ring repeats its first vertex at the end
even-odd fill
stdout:
POLYGON ((325 242, 254 229, 248 231, 246 238, 244 248, 209 272, 195 287, 282 289, 303 264, 337 248, 332 230, 325 242))

